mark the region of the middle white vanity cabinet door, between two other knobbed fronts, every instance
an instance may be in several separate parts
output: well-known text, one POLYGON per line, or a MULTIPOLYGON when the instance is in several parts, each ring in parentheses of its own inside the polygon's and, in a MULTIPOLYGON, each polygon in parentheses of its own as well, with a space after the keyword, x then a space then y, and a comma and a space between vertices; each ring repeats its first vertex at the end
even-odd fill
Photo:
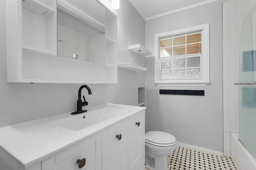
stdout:
POLYGON ((102 170, 127 169, 126 140, 125 121, 102 131, 102 170))

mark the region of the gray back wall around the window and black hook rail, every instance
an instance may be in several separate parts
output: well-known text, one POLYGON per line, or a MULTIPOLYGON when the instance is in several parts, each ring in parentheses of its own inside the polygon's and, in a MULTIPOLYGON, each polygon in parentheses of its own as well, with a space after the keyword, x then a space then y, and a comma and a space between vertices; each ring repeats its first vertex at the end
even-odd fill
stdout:
POLYGON ((154 57, 146 58, 146 131, 166 131, 178 142, 223 151, 222 1, 146 21, 146 47, 154 52, 154 34, 210 23, 210 84, 159 87, 154 57), (205 96, 160 95, 159 89, 204 90, 205 96))

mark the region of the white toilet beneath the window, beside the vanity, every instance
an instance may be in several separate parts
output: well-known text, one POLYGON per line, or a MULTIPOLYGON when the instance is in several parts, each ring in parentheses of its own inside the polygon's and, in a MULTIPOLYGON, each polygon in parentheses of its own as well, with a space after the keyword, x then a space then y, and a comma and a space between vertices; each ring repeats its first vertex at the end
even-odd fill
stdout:
POLYGON ((170 170, 169 154, 175 150, 176 138, 166 132, 148 131, 145 134, 145 168, 170 170))

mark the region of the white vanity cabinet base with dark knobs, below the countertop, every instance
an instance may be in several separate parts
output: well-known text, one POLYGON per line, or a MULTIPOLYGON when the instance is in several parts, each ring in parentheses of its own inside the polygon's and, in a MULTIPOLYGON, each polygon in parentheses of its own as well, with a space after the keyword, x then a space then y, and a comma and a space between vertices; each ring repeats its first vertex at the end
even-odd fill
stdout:
MULTIPOLYGON (((0 147, 0 170, 144 170, 144 118, 144 110, 121 119, 117 118, 114 123, 98 129, 74 145, 69 147, 56 145, 56 149, 61 151, 49 150, 48 154, 36 158, 38 162, 33 159, 20 161, 0 147)), ((72 133, 83 135, 86 130, 72 133)), ((51 139, 45 141, 45 143, 52 142, 51 139)), ((39 146, 30 153, 36 154, 36 150, 42 147, 44 146, 39 146)), ((28 156, 26 153, 22 155, 28 156)))

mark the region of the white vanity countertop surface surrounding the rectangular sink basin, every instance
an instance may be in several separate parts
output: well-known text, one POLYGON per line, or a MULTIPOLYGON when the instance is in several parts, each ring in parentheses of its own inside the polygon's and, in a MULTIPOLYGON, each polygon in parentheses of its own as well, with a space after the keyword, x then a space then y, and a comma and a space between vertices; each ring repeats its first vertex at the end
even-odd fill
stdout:
MULTIPOLYGON (((72 117, 71 112, 0 128, 0 146, 24 168, 32 166, 72 145, 95 135, 114 123, 136 114, 146 107, 106 104, 88 107, 87 112, 101 108, 124 110, 124 114, 112 117, 80 131, 58 126, 53 121, 72 117)), ((84 113, 80 113, 82 115, 84 113)))

